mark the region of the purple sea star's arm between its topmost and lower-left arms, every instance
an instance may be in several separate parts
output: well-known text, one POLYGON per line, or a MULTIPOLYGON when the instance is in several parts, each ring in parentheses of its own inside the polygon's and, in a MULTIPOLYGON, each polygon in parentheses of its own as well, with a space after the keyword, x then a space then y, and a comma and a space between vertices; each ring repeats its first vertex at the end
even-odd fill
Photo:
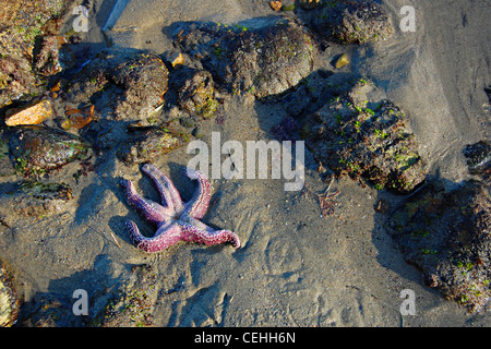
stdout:
POLYGON ((164 207, 140 195, 131 181, 123 179, 121 180, 121 185, 124 188, 128 203, 152 224, 159 225, 163 221, 167 221, 172 215, 168 207, 164 207))

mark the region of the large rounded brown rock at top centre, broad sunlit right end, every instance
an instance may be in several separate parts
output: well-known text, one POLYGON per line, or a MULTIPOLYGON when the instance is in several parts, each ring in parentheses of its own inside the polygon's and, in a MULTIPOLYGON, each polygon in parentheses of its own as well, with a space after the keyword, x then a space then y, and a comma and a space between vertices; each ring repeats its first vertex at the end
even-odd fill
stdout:
POLYGON ((296 86, 313 67, 310 35, 287 17, 259 17, 231 26, 187 22, 173 39, 231 94, 274 97, 296 86))

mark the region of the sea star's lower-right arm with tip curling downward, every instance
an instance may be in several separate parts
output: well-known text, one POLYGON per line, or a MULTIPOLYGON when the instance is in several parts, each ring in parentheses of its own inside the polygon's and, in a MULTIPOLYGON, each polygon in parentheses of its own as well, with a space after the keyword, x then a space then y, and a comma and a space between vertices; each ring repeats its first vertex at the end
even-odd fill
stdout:
POLYGON ((199 225, 194 221, 192 224, 178 221, 178 224, 181 227, 181 239, 184 241, 199 242, 206 245, 230 242, 233 249, 240 248, 239 237, 233 231, 215 230, 201 221, 199 225), (203 227, 205 228, 203 229, 203 227))

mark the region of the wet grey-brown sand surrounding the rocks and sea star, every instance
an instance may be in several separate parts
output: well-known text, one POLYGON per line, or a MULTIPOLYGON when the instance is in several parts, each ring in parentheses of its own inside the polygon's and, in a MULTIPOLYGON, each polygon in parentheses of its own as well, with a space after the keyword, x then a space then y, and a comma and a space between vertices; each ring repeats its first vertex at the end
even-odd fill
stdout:
MULTIPOLYGON (((211 0, 94 0, 86 5, 89 31, 79 45, 88 44, 92 52, 112 43, 165 56, 173 49, 170 31, 177 22, 232 24, 279 15, 264 0, 224 0, 219 5, 211 0)), ((491 84, 491 3, 385 0, 382 5, 394 26, 390 40, 332 45, 319 50, 313 71, 352 72, 374 81, 410 117, 427 177, 457 185, 469 178, 463 148, 489 139, 484 88, 491 84), (400 31, 403 5, 414 7, 416 32, 400 31), (336 70, 333 58, 345 52, 350 64, 336 70)), ((212 132, 219 132, 221 143, 275 140, 272 127, 288 115, 282 104, 260 103, 248 94, 231 96, 221 108, 220 122, 203 127, 201 140, 207 144, 212 132)), ((184 200, 196 188, 181 172, 191 158, 184 146, 154 163, 184 200)), ((322 216, 312 193, 322 193, 328 182, 308 149, 308 192, 286 192, 285 180, 212 180, 203 221, 235 231, 242 243, 238 250, 184 242, 154 254, 137 250, 124 221, 134 220, 146 234, 153 228, 127 204, 119 182, 132 180, 144 196, 157 200, 151 180, 113 153, 76 183, 77 168, 72 163, 56 174, 75 197, 63 213, 0 230, 1 258, 23 299, 19 325, 28 323, 43 299, 56 298, 57 306, 71 313, 76 289, 87 291, 89 315, 72 315, 69 324, 86 325, 107 306, 111 292, 131 280, 135 265, 149 266, 155 276, 153 326, 491 325, 489 310, 469 314, 427 287, 421 273, 404 261, 385 230, 388 214, 375 207, 383 198, 395 210, 405 195, 340 177, 332 183, 333 191, 339 190, 334 214, 322 216), (400 313, 400 293, 407 289, 416 296, 415 315, 400 313)), ((9 189, 9 181, 0 178, 0 188, 9 189)))

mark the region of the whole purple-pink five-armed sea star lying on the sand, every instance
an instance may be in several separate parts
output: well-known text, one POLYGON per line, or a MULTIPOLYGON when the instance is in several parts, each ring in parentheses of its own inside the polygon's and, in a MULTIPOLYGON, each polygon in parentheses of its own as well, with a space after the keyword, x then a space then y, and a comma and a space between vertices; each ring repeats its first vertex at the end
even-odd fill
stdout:
POLYGON ((146 238, 140 232, 134 221, 125 222, 131 241, 139 249, 145 252, 159 252, 180 240, 207 245, 229 241, 235 249, 240 248, 239 237, 235 232, 215 230, 199 220, 205 215, 209 203, 211 189, 206 176, 200 171, 187 170, 188 177, 197 180, 199 186, 194 196, 184 203, 173 183, 158 168, 145 164, 142 170, 157 186, 161 205, 140 195, 131 181, 121 180, 128 203, 147 221, 157 226, 155 236, 146 238))

